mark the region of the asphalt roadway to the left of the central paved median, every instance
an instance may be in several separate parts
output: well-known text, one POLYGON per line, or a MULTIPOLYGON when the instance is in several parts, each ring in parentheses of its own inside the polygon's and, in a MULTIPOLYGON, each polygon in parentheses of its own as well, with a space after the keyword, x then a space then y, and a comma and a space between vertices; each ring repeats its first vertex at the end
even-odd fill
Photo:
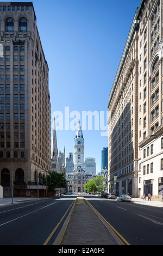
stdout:
POLYGON ((52 245, 73 202, 67 197, 0 208, 0 245, 52 245))

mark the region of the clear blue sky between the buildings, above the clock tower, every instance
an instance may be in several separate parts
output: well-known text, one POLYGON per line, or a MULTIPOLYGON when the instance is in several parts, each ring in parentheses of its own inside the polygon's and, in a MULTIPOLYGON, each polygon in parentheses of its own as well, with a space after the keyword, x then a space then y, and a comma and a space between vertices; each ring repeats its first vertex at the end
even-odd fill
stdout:
MULTIPOLYGON (((10 1, 15 2, 15 1, 10 1)), ((21 1, 32 2, 32 1, 21 1)), ((51 123, 57 111, 69 118, 63 123, 57 118, 58 149, 66 157, 74 157, 74 121, 84 111, 94 111, 99 119, 108 111, 112 83, 136 8, 141 0, 34 0, 43 51, 49 66, 51 123), (69 116, 65 113, 69 111, 69 116), (76 111, 76 112, 74 112, 76 111), (76 114, 76 115, 74 115, 76 114), (65 130, 65 125, 66 129, 65 130), (60 129, 60 130, 58 130, 60 129)), ((60 119, 61 120, 61 119, 60 119)), ((84 120, 84 119, 83 119, 84 120)), ((87 120, 88 124, 90 121, 87 120)), ((83 121, 83 123, 85 123, 83 121)), ((101 170, 101 151, 108 147, 108 136, 102 136, 93 121, 83 130, 85 157, 95 157, 97 172, 101 170)), ((77 124, 78 125, 78 124, 77 124)))

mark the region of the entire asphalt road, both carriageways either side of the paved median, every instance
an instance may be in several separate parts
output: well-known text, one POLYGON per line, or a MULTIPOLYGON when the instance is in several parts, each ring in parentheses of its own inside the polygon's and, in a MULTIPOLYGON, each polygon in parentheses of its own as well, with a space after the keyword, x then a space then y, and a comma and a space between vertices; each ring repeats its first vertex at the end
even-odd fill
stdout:
MULTIPOLYGON (((52 245, 78 194, 0 208, 0 245, 52 245)), ((163 245, 163 208, 82 194, 130 245, 163 245)), ((96 227, 95 227, 96 228, 96 227)))

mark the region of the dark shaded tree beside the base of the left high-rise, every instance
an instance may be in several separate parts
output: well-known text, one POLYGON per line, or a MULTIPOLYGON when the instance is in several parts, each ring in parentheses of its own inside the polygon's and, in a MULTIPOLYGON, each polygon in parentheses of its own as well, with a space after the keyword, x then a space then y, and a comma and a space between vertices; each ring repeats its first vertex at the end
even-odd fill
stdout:
MULTIPOLYGON (((43 183, 45 183, 45 178, 43 178, 43 183)), ((54 194, 56 188, 66 188, 67 181, 65 179, 64 173, 49 172, 47 175, 47 186, 48 191, 54 194)))

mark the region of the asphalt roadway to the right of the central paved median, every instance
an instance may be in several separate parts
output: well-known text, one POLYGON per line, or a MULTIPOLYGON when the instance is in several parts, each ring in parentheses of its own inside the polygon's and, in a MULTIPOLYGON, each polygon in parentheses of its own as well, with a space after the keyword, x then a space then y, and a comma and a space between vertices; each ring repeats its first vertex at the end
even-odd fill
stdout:
POLYGON ((163 208, 85 198, 130 245, 163 245, 163 208))

